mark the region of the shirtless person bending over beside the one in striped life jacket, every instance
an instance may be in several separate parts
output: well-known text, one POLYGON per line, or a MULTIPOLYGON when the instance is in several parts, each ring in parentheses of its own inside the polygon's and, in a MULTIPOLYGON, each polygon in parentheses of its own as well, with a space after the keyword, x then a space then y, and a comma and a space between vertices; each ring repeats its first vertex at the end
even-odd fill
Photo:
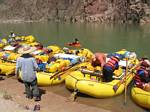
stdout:
POLYGON ((92 57, 92 66, 103 66, 106 64, 106 54, 104 53, 95 53, 92 57))

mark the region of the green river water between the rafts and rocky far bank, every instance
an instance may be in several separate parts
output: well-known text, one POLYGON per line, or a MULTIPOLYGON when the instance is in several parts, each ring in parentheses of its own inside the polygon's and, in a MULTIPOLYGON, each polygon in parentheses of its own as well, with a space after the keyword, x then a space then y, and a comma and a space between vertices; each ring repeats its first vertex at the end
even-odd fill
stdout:
POLYGON ((135 51, 138 57, 150 57, 150 25, 107 25, 70 23, 15 23, 0 24, 0 37, 10 31, 17 35, 34 35, 42 44, 65 43, 78 38, 82 47, 93 52, 115 52, 120 49, 135 51))

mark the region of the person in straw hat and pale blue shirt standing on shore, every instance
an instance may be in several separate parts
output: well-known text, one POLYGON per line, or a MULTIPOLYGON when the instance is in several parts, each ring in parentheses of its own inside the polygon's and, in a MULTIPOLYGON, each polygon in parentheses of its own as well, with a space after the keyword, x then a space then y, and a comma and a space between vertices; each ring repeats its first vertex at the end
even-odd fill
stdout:
POLYGON ((37 86, 36 70, 38 65, 35 58, 30 54, 35 51, 35 47, 23 46, 18 50, 18 53, 22 54, 21 57, 17 58, 16 62, 16 75, 18 78, 19 71, 21 71, 21 77, 25 85, 26 97, 32 99, 35 97, 35 101, 40 101, 40 93, 37 86))

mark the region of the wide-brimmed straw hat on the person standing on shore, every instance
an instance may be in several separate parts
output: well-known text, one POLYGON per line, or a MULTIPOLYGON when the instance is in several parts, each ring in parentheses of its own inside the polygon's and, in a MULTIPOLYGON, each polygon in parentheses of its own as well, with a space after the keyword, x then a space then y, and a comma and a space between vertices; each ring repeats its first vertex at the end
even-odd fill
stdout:
POLYGON ((27 54, 27 53, 31 53, 35 50, 36 50, 35 47, 30 47, 30 46, 26 45, 26 46, 23 46, 20 49, 18 49, 18 53, 19 54, 27 54))

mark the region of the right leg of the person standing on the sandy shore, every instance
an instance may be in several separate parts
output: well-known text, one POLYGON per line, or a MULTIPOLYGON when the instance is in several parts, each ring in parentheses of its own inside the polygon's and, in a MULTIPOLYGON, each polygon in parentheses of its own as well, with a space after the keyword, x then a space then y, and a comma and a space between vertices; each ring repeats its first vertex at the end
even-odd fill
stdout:
POLYGON ((40 101, 41 98, 40 98, 40 92, 37 86, 37 79, 31 83, 31 87, 33 90, 33 96, 35 97, 35 101, 40 101))

